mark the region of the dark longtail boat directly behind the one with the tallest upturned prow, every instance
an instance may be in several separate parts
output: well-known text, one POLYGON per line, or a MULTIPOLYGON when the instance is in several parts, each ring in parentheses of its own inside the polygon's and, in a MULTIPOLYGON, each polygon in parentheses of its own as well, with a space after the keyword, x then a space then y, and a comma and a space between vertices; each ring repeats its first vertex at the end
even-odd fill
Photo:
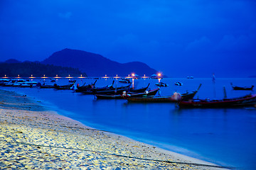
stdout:
POLYGON ((160 88, 151 90, 151 91, 144 91, 143 93, 133 94, 133 93, 126 93, 123 91, 122 94, 117 95, 102 95, 102 94, 96 94, 96 97, 98 99, 124 99, 124 98, 142 98, 142 96, 155 96, 157 91, 159 91, 160 88))

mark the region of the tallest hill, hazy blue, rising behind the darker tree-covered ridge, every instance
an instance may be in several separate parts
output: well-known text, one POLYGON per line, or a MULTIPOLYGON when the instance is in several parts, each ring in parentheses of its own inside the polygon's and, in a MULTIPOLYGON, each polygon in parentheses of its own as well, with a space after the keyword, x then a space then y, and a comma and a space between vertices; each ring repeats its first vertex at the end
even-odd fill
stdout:
POLYGON ((127 76, 132 72, 140 76, 144 74, 156 74, 155 69, 151 69, 142 62, 122 64, 102 57, 102 55, 67 48, 54 52, 53 55, 50 55, 50 57, 41 63, 78 68, 80 71, 86 72, 90 77, 100 77, 105 76, 105 74, 107 74, 107 76, 115 76, 116 74, 119 76, 127 76))

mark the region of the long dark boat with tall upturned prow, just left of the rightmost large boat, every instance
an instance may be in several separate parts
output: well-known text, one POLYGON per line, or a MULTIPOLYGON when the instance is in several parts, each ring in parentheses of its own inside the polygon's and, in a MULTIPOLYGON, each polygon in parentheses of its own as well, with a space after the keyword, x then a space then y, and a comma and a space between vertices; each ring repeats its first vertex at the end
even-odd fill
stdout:
MULTIPOLYGON (((198 89, 196 91, 192 91, 190 93, 186 92, 186 94, 181 94, 181 100, 188 101, 189 99, 193 98, 198 90, 201 88, 202 84, 199 85, 198 89)), ((144 103, 164 103, 164 102, 176 102, 179 100, 178 94, 172 95, 172 96, 143 96, 142 98, 127 98, 128 101, 132 102, 144 102, 144 103)))

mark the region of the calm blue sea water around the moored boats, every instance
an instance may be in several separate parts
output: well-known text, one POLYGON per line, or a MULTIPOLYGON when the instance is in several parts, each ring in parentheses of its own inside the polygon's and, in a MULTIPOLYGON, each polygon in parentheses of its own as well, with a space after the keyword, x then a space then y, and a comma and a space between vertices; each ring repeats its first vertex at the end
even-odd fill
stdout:
MULTIPOLYGON (((41 81, 41 79, 34 79, 41 81)), ((48 81, 48 80, 47 80, 48 81)), ((90 84, 94 79, 78 79, 90 84)), ((112 84, 112 79, 99 79, 96 86, 112 84)), ((134 86, 157 79, 134 80, 134 86)), ((233 91, 230 82, 238 86, 256 85, 256 79, 162 79, 169 87, 161 88, 161 96, 174 91, 193 91, 202 83, 196 98, 223 98, 223 86, 228 97, 243 96, 255 91, 233 91), (175 86, 175 81, 183 86, 175 86)), ((58 84, 68 84, 58 79, 58 84)), ((120 84, 117 84, 120 86, 120 84)), ((203 159, 224 166, 256 169, 256 108, 177 108, 175 103, 129 103, 125 100, 97 100, 92 95, 53 89, 10 88, 36 100, 50 103, 51 109, 79 120, 92 128, 108 130, 132 137, 174 152, 203 159)))

